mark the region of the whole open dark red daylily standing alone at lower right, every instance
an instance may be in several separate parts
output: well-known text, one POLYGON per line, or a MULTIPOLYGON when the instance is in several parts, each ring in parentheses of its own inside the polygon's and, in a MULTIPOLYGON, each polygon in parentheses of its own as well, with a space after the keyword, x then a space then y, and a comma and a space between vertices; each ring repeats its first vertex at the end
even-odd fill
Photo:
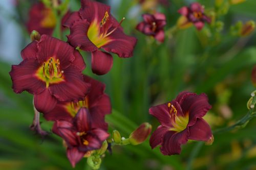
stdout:
POLYGON ((208 141, 212 137, 209 125, 202 118, 211 108, 206 94, 181 92, 166 104, 150 108, 161 125, 152 134, 152 149, 161 145, 163 155, 180 154, 181 144, 191 140, 208 141))

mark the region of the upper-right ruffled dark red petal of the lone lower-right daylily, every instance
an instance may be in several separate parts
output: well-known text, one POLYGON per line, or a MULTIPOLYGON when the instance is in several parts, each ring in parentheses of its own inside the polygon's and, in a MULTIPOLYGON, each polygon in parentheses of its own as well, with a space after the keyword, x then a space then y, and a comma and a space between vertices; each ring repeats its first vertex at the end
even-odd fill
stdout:
POLYGON ((196 93, 186 93, 180 100, 180 106, 184 114, 188 112, 188 127, 194 125, 197 118, 203 117, 211 109, 207 95, 204 93, 199 95, 196 93))

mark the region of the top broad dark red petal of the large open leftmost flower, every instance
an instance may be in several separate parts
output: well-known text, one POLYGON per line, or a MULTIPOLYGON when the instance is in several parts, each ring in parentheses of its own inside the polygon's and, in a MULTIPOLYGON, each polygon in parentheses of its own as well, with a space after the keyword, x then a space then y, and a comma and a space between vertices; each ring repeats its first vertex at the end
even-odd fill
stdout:
POLYGON ((36 57, 40 63, 46 62, 51 57, 59 59, 60 69, 66 69, 75 60, 74 48, 67 42, 48 35, 42 35, 37 43, 36 57))

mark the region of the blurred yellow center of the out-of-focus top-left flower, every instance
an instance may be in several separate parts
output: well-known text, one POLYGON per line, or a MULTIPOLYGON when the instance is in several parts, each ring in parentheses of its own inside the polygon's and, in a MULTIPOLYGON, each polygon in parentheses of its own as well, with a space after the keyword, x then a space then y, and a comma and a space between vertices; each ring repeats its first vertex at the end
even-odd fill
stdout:
POLYGON ((56 26, 57 19, 51 9, 43 10, 42 16, 44 16, 44 18, 40 22, 41 27, 51 29, 56 26))

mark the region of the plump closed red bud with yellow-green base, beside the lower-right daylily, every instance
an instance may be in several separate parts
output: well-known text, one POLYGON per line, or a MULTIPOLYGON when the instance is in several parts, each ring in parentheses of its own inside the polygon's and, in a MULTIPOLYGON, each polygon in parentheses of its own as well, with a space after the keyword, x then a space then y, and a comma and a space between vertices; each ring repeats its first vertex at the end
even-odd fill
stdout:
POLYGON ((137 145, 146 140, 148 135, 150 135, 152 126, 149 123, 141 124, 135 131, 129 136, 130 143, 137 145))

